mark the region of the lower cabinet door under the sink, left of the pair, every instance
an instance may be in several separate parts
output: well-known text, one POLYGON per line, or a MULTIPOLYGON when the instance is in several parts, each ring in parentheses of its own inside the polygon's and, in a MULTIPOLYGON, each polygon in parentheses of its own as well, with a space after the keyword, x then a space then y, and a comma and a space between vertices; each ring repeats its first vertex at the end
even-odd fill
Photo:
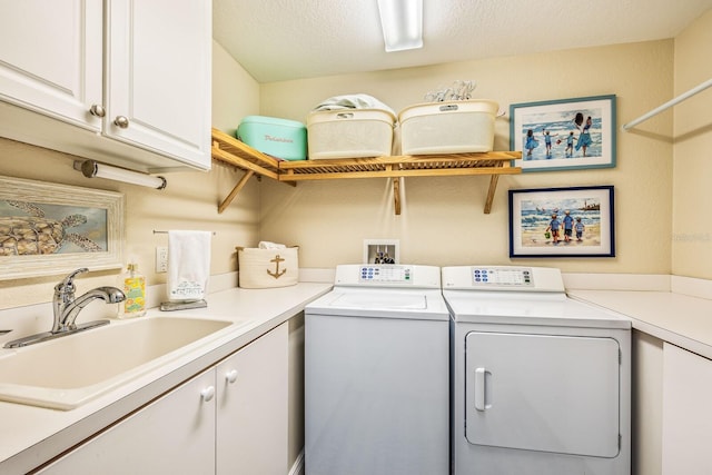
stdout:
MULTIPOLYGON (((168 393, 39 473, 214 474, 215 369, 168 393)), ((283 474, 284 475, 284 474, 283 474)))

